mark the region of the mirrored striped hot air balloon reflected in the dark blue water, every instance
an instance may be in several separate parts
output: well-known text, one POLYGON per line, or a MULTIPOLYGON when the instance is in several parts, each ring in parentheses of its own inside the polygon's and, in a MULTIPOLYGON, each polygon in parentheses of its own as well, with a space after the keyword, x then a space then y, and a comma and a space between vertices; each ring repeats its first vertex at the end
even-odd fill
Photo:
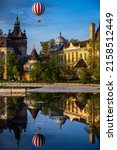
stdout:
POLYGON ((45 137, 42 134, 35 134, 32 138, 32 143, 36 147, 41 147, 45 143, 45 137))

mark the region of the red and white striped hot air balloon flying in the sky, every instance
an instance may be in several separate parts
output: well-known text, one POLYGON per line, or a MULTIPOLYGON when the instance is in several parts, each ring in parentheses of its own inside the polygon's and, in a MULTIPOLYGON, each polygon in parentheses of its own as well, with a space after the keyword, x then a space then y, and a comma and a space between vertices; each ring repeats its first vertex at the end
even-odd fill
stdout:
POLYGON ((44 11, 45 6, 40 2, 34 3, 34 5, 32 6, 32 12, 37 16, 42 15, 44 11))

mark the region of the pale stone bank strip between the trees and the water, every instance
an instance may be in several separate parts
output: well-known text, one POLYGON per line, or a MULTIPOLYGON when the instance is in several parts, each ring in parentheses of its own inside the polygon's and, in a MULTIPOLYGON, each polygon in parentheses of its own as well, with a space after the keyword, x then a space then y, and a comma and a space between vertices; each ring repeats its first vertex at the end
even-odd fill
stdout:
POLYGON ((99 93, 100 86, 97 84, 78 83, 0 83, 0 93, 99 93), (29 89, 30 88, 30 89, 29 89))

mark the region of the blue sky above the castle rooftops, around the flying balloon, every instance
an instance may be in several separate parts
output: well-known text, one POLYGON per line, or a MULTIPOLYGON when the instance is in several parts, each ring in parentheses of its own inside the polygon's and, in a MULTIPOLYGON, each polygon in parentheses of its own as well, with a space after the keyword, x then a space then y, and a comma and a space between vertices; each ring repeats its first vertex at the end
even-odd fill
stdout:
POLYGON ((17 9, 21 28, 27 33, 28 53, 33 45, 40 51, 40 42, 56 39, 59 32, 68 40, 86 40, 90 23, 98 27, 100 19, 99 0, 0 0, 0 28, 4 33, 13 30, 17 9), (32 13, 35 2, 42 2, 46 8, 38 17, 32 13))

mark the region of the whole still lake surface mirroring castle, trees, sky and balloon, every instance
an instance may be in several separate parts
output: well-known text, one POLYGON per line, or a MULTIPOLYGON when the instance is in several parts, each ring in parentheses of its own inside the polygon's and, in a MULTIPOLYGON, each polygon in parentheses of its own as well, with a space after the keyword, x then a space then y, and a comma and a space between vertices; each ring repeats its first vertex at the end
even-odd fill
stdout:
POLYGON ((99 96, 0 97, 0 150, 99 150, 99 96))

